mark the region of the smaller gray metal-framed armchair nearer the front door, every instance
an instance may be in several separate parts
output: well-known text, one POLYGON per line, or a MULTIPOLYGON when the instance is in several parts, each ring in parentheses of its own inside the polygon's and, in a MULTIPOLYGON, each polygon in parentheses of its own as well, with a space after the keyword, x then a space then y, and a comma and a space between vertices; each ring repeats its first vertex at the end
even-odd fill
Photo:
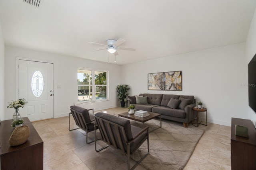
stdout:
MULTIPOLYGON (((73 115, 76 125, 86 132, 86 143, 88 143, 88 133, 94 131, 95 128, 98 129, 97 126, 94 127, 94 114, 90 113, 89 110, 93 109, 85 109, 83 107, 70 106, 70 114, 73 115)), ((89 143, 92 142, 94 141, 91 141, 89 143)))

